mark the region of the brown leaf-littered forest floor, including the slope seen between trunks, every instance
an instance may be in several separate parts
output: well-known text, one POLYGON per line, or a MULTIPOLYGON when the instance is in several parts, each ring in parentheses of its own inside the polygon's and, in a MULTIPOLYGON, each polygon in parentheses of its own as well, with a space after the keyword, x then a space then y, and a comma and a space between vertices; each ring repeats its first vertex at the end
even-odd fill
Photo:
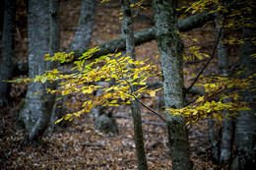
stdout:
MULTIPOLYGON (((121 21, 118 1, 99 4, 96 7, 96 26, 92 46, 119 36, 121 21)), ((61 50, 68 50, 72 43, 81 8, 80 0, 61 0, 61 50)), ((146 20, 135 22, 135 30, 153 26, 152 10, 142 11, 149 15, 146 20)), ((25 4, 18 0, 16 54, 17 61, 28 59, 28 33, 25 4)), ((183 16, 186 17, 186 16, 183 16)), ((182 18, 182 16, 181 16, 182 18)), ((215 39, 213 27, 197 28, 186 32, 197 37, 198 43, 215 39)), ((192 44, 184 38, 185 46, 192 44)), ((211 54, 213 44, 203 46, 204 52, 211 54)), ((186 50, 186 48, 185 48, 186 50)), ((137 47, 139 59, 150 58, 160 65, 155 41, 137 47)), ((217 60, 213 60, 206 73, 217 73, 217 60)), ((203 67, 204 62, 188 64, 185 69, 185 84, 189 85, 203 67)), ((154 80, 153 80, 154 81, 154 80)), ((129 107, 118 107, 114 117, 119 128, 118 135, 104 135, 96 132, 94 122, 88 115, 76 118, 67 128, 59 132, 47 133, 40 146, 26 140, 28 133, 16 128, 16 116, 19 112, 26 85, 13 85, 12 95, 16 98, 9 107, 0 111, 0 169, 137 169, 133 135, 132 116, 129 107)), ((157 108, 157 99, 144 98, 147 106, 157 108)), ((160 114, 164 117, 162 111, 160 114)), ((167 146, 167 134, 164 123, 148 110, 142 108, 144 140, 149 169, 171 169, 171 160, 167 146)), ((201 120, 189 130, 191 157, 194 169, 213 169, 211 144, 208 137, 207 120, 201 120)))

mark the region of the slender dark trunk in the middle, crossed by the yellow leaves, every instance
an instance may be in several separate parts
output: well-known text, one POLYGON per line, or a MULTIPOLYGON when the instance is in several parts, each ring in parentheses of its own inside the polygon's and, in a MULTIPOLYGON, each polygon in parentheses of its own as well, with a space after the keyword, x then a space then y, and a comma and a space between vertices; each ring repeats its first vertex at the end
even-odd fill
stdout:
MULTIPOLYGON (((123 15, 123 31, 126 38, 126 54, 131 56, 133 60, 136 60, 135 56, 135 42, 133 33, 133 19, 132 12, 130 9, 130 2, 127 0, 120 0, 123 15)), ((131 66, 134 67, 134 66, 131 66)), ((131 86, 131 92, 136 91, 137 86, 131 86)), ((148 169, 147 159, 144 149, 143 130, 142 130, 142 119, 140 104, 134 98, 131 98, 131 108, 133 115, 134 124, 134 138, 136 146, 137 163, 140 170, 148 169)))

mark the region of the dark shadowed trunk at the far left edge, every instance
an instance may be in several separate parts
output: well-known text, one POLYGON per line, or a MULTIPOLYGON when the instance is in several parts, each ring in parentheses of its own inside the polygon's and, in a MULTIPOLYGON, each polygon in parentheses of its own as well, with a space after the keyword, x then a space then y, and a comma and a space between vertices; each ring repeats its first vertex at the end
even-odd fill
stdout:
MULTIPOLYGON (((0 74, 0 107, 10 100, 11 85, 3 82, 12 79, 14 66, 15 14, 16 0, 5 0, 4 26, 2 35, 2 66, 0 74)), ((2 12, 1 12, 2 13, 2 12)))

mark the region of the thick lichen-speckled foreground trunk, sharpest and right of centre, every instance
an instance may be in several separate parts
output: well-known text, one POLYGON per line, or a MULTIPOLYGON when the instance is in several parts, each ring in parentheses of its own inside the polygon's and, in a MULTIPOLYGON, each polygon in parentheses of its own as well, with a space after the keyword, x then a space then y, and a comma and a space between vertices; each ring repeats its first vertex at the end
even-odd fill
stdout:
MULTIPOLYGON (((183 43, 177 29, 177 0, 155 0, 154 13, 160 66, 163 80, 165 109, 184 106, 182 75, 183 43)), ((174 170, 192 169, 187 129, 182 116, 167 113, 170 157, 174 170)))

